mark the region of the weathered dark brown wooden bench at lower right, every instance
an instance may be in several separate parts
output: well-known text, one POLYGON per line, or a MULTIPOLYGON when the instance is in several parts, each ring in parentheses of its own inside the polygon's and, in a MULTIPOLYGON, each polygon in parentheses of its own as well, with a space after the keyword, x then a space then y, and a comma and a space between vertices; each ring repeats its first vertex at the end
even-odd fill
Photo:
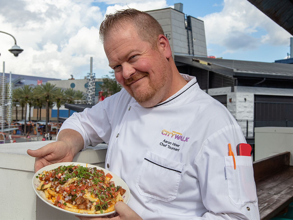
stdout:
POLYGON ((271 219, 293 201, 290 152, 253 162, 260 219, 271 219))

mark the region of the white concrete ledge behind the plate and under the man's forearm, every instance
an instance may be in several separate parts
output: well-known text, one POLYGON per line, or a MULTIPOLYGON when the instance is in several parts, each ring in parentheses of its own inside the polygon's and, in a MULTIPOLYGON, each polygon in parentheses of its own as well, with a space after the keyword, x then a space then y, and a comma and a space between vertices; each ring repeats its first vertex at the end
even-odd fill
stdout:
MULTIPOLYGON (((39 149, 54 141, 0 144, 0 219, 78 219, 52 208, 36 196, 32 188, 35 158, 27 149, 39 149)), ((80 151, 74 162, 104 167, 107 144, 80 151)))

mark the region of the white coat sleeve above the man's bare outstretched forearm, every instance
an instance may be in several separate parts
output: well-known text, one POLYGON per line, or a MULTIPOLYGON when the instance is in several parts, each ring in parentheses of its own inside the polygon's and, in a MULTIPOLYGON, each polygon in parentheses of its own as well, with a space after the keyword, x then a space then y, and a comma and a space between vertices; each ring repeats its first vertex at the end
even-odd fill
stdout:
POLYGON ((112 128, 117 121, 115 112, 118 109, 118 115, 123 115, 122 109, 125 108, 125 105, 127 106, 129 96, 123 96, 124 93, 125 90, 122 90, 98 102, 92 108, 86 108, 79 113, 74 112, 65 120, 60 130, 72 129, 79 132, 84 139, 84 149, 89 145, 96 146, 103 142, 108 144, 112 128), (122 103, 122 105, 119 103, 122 103))

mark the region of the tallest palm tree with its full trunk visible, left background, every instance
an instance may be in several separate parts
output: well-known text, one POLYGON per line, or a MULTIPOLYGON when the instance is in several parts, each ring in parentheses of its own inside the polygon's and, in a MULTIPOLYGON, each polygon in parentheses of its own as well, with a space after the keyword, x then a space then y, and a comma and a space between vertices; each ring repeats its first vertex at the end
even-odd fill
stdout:
POLYGON ((45 97, 46 101, 46 133, 48 133, 48 122, 49 122, 49 105, 53 103, 53 100, 55 98, 57 88, 55 85, 46 82, 45 84, 42 84, 41 86, 36 87, 36 93, 38 97, 45 97))

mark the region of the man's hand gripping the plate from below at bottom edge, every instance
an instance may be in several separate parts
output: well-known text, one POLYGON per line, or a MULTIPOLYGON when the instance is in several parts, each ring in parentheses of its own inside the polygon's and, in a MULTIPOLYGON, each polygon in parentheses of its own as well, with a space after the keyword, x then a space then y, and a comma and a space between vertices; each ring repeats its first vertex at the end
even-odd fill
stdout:
POLYGON ((76 216, 81 220, 103 220, 103 218, 111 218, 115 220, 142 220, 142 218, 134 212, 128 205, 123 202, 117 202, 115 204, 115 210, 117 213, 115 215, 105 216, 105 217, 83 217, 76 216))

